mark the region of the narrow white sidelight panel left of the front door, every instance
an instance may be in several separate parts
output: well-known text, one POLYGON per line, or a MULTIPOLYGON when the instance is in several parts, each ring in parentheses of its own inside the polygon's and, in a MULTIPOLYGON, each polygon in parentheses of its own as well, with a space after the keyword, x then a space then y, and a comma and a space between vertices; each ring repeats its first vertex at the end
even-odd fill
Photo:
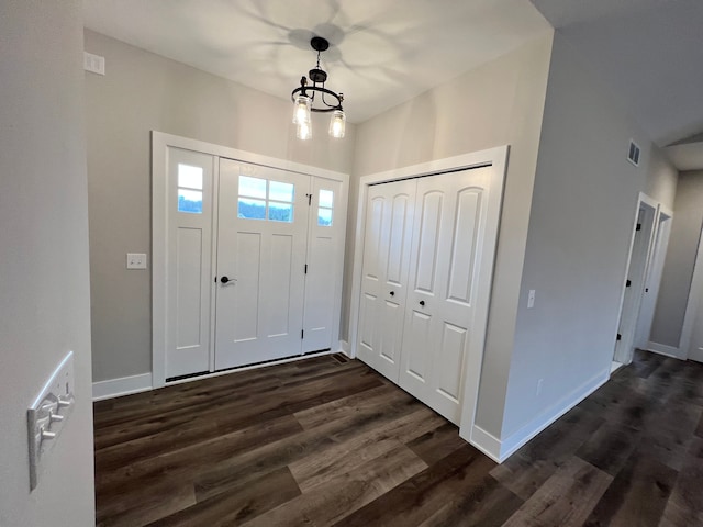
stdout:
POLYGON ((214 158, 169 147, 165 377, 210 369, 214 158))

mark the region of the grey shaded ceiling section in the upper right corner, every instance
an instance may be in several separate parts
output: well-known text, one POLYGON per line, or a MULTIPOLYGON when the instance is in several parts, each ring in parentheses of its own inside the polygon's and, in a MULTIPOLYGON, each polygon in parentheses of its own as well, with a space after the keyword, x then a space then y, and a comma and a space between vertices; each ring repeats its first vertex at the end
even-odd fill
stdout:
POLYGON ((703 132, 703 1, 532 0, 659 146, 703 132))

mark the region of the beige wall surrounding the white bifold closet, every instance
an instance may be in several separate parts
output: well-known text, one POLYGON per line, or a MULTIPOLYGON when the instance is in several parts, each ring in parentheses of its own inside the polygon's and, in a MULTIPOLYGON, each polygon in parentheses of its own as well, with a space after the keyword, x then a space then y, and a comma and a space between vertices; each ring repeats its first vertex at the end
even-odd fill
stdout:
MULTIPOLYGON (((511 147, 482 370, 488 382, 481 382, 477 416, 487 428, 499 431, 550 49, 548 32, 371 119, 357 131, 355 177, 499 145, 511 147)), ((347 251, 347 261, 350 258, 347 251)))

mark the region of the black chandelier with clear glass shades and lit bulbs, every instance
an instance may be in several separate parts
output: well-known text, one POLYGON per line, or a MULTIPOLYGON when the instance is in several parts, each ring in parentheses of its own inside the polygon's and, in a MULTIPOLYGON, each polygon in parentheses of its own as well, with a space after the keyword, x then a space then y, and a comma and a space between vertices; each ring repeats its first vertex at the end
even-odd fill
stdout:
POLYGON ((332 137, 344 137, 346 116, 342 109, 343 93, 335 93, 325 88, 327 72, 320 68, 320 53, 330 47, 330 43, 322 36, 313 36, 310 46, 317 52, 317 65, 309 71, 310 82, 303 76, 300 87, 290 94, 293 100, 293 123, 297 125, 295 136, 299 139, 312 137, 311 112, 332 112, 328 133, 332 137), (316 96, 316 97, 315 97, 316 96), (316 105, 315 105, 316 104, 316 105))

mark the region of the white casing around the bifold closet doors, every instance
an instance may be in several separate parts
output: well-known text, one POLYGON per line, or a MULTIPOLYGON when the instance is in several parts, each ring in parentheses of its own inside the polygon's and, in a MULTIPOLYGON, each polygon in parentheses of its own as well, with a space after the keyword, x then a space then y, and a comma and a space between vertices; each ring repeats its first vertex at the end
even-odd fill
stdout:
MULTIPOLYGON (((466 170, 470 168, 479 168, 486 166, 494 167, 491 176, 491 197, 490 199, 499 200, 499 217, 494 225, 489 224, 486 233, 487 237, 492 235, 490 229, 494 229, 498 236, 500 227, 500 214, 502 212, 503 187, 505 175, 507 172, 507 155, 509 145, 488 148, 484 150, 462 154, 459 156, 436 159, 428 162, 412 165, 409 167, 397 168, 383 172, 372 173, 359 178, 358 182, 358 201, 357 201, 357 221, 354 240, 354 267, 352 277, 352 302, 349 309, 349 355, 356 357, 358 345, 358 324, 359 307, 361 295, 361 267, 364 265, 364 237, 366 232, 366 203, 369 186, 376 183, 384 183, 397 181, 400 179, 419 178, 423 176, 432 176, 437 173, 446 173, 451 171, 466 170)), ((459 424, 459 433, 461 437, 470 438, 476 418, 476 404, 478 401, 479 382, 481 377, 481 366, 483 362, 483 351, 486 345, 486 333, 488 327, 488 311, 491 289, 493 283, 493 264, 495 258, 495 248, 492 251, 481 255, 481 268, 490 269, 488 283, 481 284, 478 295, 478 304, 486 306, 479 310, 475 319, 475 327, 481 328, 481 332, 473 332, 469 340, 469 349, 473 354, 467 356, 465 366, 465 381, 462 394, 461 419, 459 424)))

